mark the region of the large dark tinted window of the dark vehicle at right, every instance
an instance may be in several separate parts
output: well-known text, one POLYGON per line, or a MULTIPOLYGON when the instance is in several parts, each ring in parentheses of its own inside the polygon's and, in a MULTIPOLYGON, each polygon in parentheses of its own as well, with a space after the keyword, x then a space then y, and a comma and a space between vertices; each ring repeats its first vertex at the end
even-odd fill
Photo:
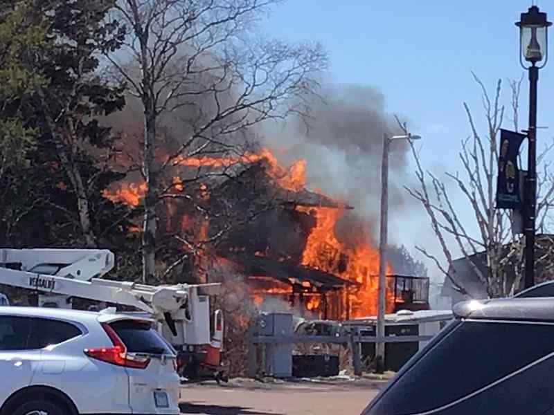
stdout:
POLYGON ((554 352, 554 326, 463 322, 398 378, 370 413, 418 414, 463 398, 554 352))

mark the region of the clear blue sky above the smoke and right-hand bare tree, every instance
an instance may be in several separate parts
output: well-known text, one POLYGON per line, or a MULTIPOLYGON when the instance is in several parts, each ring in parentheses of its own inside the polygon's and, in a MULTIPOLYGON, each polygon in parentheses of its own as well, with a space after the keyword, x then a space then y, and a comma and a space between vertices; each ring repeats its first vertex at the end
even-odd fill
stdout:
MULTIPOLYGON (((536 3, 554 19, 553 2, 536 3)), ((524 74, 514 22, 530 4, 530 0, 289 0, 272 13, 264 28, 269 35, 292 42, 321 42, 330 54, 333 82, 379 89, 386 97, 386 110, 407 116, 413 133, 424 137, 425 166, 455 171, 460 140, 470 133, 463 102, 476 116, 481 114, 481 92, 471 71, 491 92, 499 77, 524 74)), ((540 72, 539 125, 548 126, 553 89, 554 57, 540 72)), ((525 79, 520 128, 527 124, 527 90, 525 79)), ((541 130, 539 140, 553 134, 541 130)), ((402 220, 392 219, 393 233, 405 226, 402 220)), ((429 229, 427 223, 420 227, 429 229)), ((409 248, 418 243, 414 232, 408 237, 399 237, 400 233, 396 237, 409 248)))

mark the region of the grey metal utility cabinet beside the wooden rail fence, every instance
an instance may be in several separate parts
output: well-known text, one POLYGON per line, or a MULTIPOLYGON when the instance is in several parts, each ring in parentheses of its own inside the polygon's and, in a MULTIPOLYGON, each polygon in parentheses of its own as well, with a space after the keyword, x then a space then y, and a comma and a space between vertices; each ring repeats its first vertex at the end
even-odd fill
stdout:
MULTIPOLYGON (((292 335, 291 313, 260 313, 259 333, 274 338, 292 335)), ((275 378, 292 377, 292 344, 265 344, 265 369, 275 378)))

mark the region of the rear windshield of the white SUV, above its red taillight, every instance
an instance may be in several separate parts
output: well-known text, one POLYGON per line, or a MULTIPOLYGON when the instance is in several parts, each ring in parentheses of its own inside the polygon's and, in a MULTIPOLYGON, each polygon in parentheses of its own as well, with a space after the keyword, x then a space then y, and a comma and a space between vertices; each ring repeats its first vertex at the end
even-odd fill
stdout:
POLYGON ((130 353, 173 354, 166 341, 148 322, 120 320, 109 325, 130 353))

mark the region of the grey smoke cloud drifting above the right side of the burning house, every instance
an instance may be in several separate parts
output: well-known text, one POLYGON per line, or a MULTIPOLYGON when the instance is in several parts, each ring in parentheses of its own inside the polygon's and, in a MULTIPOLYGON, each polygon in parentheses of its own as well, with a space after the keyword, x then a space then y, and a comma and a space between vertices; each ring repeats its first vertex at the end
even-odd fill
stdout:
MULTIPOLYGON (((373 224, 370 236, 375 239, 379 230, 384 135, 401 133, 400 128, 393 114, 386 113, 384 96, 376 89, 326 86, 321 97, 312 103, 310 120, 273 126, 265 141, 271 148, 287 149, 284 152, 284 157, 289 158, 287 162, 305 158, 309 187, 355 208, 346 214, 339 227, 345 234, 354 220, 359 225, 362 219, 373 224)), ((402 187, 408 180, 408 151, 405 140, 391 142, 388 203, 392 212, 409 203, 402 187)))

